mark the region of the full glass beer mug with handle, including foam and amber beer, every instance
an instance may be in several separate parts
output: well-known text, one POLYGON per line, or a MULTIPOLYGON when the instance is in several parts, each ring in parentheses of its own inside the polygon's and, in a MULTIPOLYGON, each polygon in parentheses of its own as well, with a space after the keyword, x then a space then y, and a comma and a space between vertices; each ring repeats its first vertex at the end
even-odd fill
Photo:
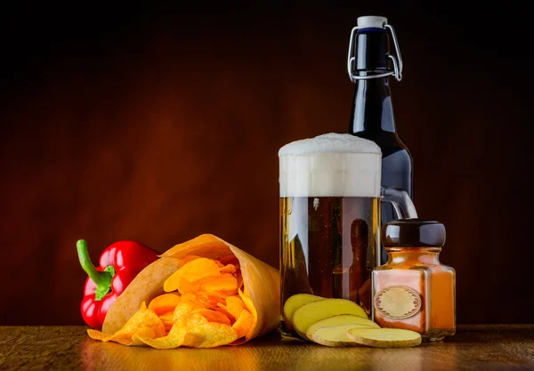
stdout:
POLYGON ((294 294, 343 298, 371 311, 371 271, 380 265, 380 206, 416 218, 408 194, 380 186, 373 141, 328 133, 279 149, 281 333, 294 294))

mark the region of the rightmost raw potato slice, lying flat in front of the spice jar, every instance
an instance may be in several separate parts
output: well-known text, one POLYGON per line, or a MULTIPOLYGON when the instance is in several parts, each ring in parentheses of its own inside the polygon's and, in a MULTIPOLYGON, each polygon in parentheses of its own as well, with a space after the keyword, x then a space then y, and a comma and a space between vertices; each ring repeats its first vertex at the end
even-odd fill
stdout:
POLYGON ((351 328, 347 336, 356 343, 376 348, 408 348, 421 343, 421 335, 401 328, 351 328))

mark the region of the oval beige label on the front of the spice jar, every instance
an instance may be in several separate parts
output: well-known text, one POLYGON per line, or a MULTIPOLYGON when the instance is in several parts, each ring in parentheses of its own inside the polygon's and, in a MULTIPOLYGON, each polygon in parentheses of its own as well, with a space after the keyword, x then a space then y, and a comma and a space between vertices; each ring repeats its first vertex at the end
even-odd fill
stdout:
POLYGON ((388 319, 409 319, 421 310, 421 296, 408 286, 389 286, 375 294, 374 305, 388 319))

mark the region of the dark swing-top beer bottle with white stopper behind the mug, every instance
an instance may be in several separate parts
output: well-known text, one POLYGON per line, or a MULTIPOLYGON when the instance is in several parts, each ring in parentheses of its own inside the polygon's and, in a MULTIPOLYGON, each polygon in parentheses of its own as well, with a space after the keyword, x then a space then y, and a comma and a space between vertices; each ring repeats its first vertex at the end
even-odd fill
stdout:
MULTIPOLYGON (((352 28, 347 69, 354 86, 349 133, 375 141, 382 149, 382 186, 400 188, 413 199, 413 159, 397 133, 389 77, 401 81, 402 59, 387 19, 358 18, 352 28), (390 34, 395 54, 390 52, 390 34)), ((392 204, 382 203, 382 223, 396 219, 392 204)), ((381 263, 387 261, 382 248, 381 263)))

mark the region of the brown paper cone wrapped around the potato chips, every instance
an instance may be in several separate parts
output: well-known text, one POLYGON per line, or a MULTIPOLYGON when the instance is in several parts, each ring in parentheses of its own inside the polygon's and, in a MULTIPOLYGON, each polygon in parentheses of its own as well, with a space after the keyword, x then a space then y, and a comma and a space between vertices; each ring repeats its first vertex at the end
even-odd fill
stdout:
POLYGON ((245 293, 255 307, 255 324, 246 340, 270 332, 279 325, 279 270, 210 234, 200 235, 170 248, 156 262, 142 270, 109 308, 102 332, 114 334, 139 310, 142 302, 150 302, 156 296, 165 294, 163 284, 178 270, 178 259, 187 255, 219 259, 229 254, 234 254, 239 260, 245 293))

